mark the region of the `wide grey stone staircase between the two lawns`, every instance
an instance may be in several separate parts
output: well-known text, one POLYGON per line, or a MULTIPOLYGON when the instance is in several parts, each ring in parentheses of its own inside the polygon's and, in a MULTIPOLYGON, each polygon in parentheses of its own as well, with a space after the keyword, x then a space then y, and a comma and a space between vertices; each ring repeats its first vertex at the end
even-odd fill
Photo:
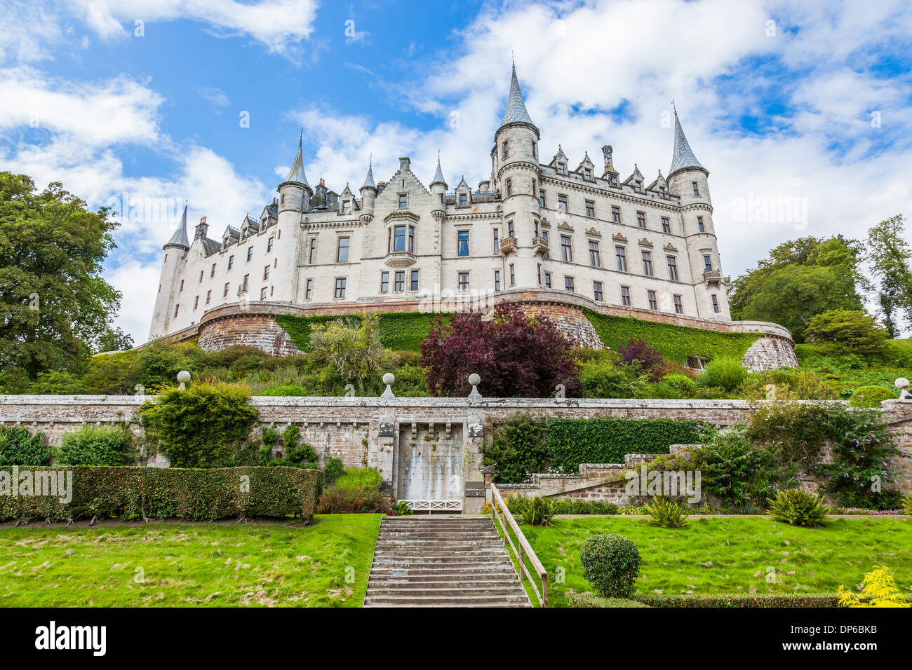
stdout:
POLYGON ((531 607, 488 517, 386 517, 365 607, 531 607))

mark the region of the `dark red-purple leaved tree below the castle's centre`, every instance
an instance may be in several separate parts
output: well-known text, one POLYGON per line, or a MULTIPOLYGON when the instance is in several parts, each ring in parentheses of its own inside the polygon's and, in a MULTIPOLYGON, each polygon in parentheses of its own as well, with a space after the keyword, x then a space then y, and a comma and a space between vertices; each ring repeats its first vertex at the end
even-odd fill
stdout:
POLYGON ((435 396, 468 396, 469 375, 476 372, 485 397, 553 397, 558 384, 565 386, 566 397, 579 397, 570 347, 551 319, 500 303, 490 321, 480 312, 454 314, 449 325, 438 317, 421 343, 421 365, 429 368, 428 387, 435 396))

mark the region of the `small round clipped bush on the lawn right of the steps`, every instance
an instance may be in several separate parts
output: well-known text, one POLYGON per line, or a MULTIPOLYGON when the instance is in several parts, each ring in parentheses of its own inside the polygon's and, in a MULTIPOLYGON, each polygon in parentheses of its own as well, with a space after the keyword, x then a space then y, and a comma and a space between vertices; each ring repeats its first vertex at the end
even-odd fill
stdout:
POLYGON ((639 576, 639 551, 623 535, 593 535, 579 551, 583 576, 598 593, 609 598, 629 598, 639 576))

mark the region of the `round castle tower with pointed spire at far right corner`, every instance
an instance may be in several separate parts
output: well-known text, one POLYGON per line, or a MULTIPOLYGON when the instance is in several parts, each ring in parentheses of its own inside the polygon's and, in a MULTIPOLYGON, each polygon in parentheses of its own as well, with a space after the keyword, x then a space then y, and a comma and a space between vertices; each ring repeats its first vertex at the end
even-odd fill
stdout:
POLYGON ((693 150, 675 109, 675 139, 668 170, 668 191, 680 198, 681 224, 688 241, 688 255, 698 315, 707 319, 731 319, 728 285, 722 276, 719 247, 712 225, 710 171, 693 150))

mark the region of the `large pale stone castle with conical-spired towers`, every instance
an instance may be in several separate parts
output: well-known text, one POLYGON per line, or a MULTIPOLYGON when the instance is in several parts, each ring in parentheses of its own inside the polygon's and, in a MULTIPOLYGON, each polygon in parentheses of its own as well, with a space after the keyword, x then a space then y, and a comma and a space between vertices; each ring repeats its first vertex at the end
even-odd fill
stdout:
MULTIPOLYGON (((463 304, 513 300, 554 316, 567 335, 597 345, 584 307, 610 314, 751 330, 788 340, 781 326, 736 325, 726 297, 709 170, 674 115, 668 175, 647 183, 635 166, 621 180, 612 148, 601 170, 588 153, 575 168, 563 149, 547 163, 516 69, 491 149, 491 175, 452 190, 437 170, 425 186, 399 159, 389 180, 372 164, 356 194, 321 179, 312 187, 301 143, 278 198, 258 219, 192 241, 187 211, 165 243, 150 339, 198 335, 220 348, 294 348, 274 316, 415 311, 440 295, 463 304), (218 322, 218 323, 217 323, 218 322), (769 327, 767 327, 769 326, 769 327), (255 331, 255 332, 254 332, 255 331)), ((792 355, 793 356, 793 353, 792 355)))

